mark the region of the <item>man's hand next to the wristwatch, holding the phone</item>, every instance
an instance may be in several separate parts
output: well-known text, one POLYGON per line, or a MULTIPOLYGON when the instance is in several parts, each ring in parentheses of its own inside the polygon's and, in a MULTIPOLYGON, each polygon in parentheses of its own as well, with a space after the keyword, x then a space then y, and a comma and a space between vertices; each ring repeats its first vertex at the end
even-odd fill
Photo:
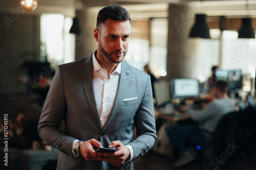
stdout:
POLYGON ((88 162, 93 162, 97 160, 98 153, 94 151, 93 147, 96 146, 98 148, 102 147, 101 143, 96 139, 87 140, 81 142, 79 145, 80 154, 84 159, 88 162))

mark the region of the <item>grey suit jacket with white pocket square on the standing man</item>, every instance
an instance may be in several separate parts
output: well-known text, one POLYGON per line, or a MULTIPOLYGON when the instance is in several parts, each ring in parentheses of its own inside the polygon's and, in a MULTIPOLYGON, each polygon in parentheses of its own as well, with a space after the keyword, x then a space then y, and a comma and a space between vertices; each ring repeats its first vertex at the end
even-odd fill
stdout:
MULTIPOLYGON (((97 111, 94 90, 97 89, 93 86, 92 56, 57 67, 38 124, 39 136, 60 150, 57 169, 99 168, 99 161, 89 163, 81 156, 73 157, 75 139, 86 141, 94 138, 103 147, 120 140, 124 145, 132 145, 133 160, 153 147, 156 129, 150 76, 122 62, 116 100, 104 127, 97 111), (124 100, 130 98, 135 99, 124 100), (62 119, 65 132, 59 130, 62 119), (132 140, 134 127, 137 138, 132 140)), ((133 169, 133 163, 116 167, 103 162, 103 168, 133 169)))

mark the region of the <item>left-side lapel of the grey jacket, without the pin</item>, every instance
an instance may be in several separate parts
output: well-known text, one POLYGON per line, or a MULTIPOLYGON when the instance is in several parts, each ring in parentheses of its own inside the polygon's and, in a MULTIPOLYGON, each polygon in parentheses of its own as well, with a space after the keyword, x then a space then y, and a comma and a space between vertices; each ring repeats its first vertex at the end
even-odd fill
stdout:
POLYGON ((82 79, 83 88, 84 88, 84 91, 86 92, 87 100, 93 111, 93 115, 97 120, 100 128, 102 129, 97 105, 95 102, 95 96, 94 96, 92 56, 89 58, 86 58, 82 63, 83 65, 79 67, 79 71, 82 79))

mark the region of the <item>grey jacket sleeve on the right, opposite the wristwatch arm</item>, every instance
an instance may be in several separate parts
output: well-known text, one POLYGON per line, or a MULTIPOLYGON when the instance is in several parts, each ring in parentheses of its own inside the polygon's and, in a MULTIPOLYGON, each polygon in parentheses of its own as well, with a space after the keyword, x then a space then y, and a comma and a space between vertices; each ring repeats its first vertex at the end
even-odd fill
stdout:
POLYGON ((150 150, 156 140, 156 120, 150 76, 148 76, 144 97, 135 115, 137 138, 130 142, 134 149, 135 160, 150 150))

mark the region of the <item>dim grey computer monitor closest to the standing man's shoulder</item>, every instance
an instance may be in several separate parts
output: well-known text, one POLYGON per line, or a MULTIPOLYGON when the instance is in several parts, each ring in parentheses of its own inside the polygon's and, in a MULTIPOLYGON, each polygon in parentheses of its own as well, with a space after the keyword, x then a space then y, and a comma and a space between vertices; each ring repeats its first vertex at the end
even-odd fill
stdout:
POLYGON ((167 81, 158 81, 154 83, 156 105, 158 107, 170 102, 169 84, 167 81))

